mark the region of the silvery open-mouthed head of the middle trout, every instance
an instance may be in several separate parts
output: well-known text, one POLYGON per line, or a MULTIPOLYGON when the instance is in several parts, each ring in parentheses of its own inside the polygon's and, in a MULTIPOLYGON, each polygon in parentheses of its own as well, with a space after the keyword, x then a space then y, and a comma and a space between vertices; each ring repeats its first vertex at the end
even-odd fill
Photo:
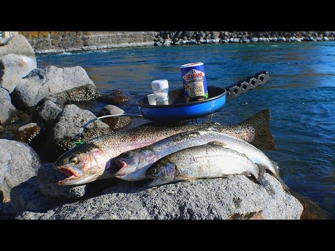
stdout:
POLYGON ((114 158, 113 163, 119 167, 114 177, 126 181, 140 181, 145 178, 146 167, 158 160, 158 156, 150 149, 127 151, 114 158))

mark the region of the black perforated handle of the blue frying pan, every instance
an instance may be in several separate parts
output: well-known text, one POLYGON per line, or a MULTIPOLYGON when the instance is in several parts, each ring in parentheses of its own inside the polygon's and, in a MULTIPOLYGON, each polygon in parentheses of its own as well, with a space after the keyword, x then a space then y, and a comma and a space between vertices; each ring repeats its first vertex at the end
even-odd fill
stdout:
POLYGON ((225 87, 225 89, 227 90, 225 102, 228 102, 232 98, 236 98, 237 96, 240 96, 247 91, 255 89, 257 86, 261 86, 269 79, 269 72, 262 71, 260 73, 254 74, 251 77, 247 77, 244 80, 236 82, 235 84, 225 87))

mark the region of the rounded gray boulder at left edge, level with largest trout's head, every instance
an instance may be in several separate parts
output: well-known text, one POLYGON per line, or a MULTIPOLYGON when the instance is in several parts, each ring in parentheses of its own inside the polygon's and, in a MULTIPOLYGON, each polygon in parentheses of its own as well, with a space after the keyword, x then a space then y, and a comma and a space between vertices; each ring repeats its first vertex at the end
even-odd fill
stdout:
POLYGON ((40 160, 27 144, 8 139, 0 139, 0 156, 0 194, 6 202, 12 188, 36 175, 40 160))

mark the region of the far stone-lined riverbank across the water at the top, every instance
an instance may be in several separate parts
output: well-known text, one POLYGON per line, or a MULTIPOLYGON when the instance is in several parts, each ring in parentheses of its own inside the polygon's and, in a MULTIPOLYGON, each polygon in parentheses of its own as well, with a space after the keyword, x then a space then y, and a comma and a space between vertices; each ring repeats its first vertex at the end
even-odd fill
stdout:
POLYGON ((119 47, 334 41, 335 31, 20 31, 42 53, 119 47))

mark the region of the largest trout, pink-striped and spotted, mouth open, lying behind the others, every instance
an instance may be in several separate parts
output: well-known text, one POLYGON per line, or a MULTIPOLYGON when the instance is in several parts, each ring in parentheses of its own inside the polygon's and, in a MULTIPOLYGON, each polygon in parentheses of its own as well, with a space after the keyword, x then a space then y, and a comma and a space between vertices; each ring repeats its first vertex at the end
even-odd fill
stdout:
POLYGON ((181 132, 214 126, 218 131, 227 133, 259 149, 276 150, 269 129, 270 110, 265 109, 249 119, 231 126, 218 123, 202 123, 186 126, 158 126, 144 124, 130 130, 111 132, 75 146, 54 163, 54 168, 68 176, 59 185, 81 185, 96 179, 112 178, 117 166, 112 165, 113 158, 121 153, 149 146, 155 142, 181 132))

